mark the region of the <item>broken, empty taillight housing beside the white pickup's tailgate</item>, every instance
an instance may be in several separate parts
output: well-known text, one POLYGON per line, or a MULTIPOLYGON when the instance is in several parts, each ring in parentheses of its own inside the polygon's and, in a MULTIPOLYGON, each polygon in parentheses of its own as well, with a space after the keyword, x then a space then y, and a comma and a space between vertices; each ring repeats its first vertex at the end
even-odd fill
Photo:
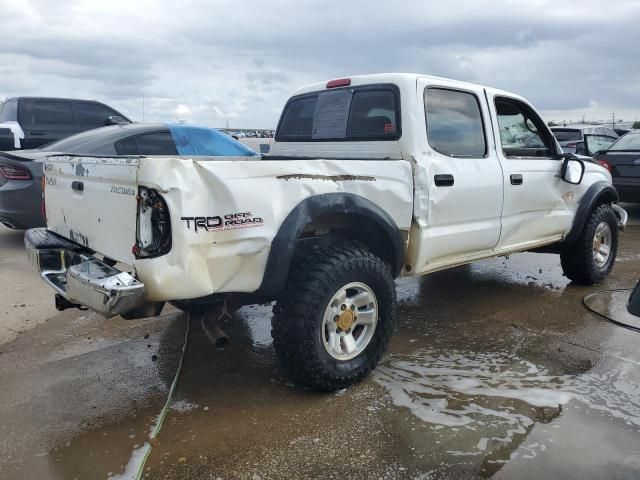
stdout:
POLYGON ((141 187, 138 194, 138 228, 131 249, 136 258, 159 257, 171 250, 171 220, 162 196, 141 187))

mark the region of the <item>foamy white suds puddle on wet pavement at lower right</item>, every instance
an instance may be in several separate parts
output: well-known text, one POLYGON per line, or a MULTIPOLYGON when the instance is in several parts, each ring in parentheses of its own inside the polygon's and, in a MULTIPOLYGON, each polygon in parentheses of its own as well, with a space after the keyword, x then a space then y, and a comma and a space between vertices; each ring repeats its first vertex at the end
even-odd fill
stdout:
POLYGON ((372 377, 394 407, 408 409, 435 434, 441 454, 478 457, 480 473, 490 475, 518 457, 554 449, 552 433, 523 442, 536 425, 553 424, 569 409, 600 416, 604 430, 615 423, 640 432, 640 386, 637 377, 626 378, 632 367, 554 374, 509 352, 421 349, 394 355, 372 377))

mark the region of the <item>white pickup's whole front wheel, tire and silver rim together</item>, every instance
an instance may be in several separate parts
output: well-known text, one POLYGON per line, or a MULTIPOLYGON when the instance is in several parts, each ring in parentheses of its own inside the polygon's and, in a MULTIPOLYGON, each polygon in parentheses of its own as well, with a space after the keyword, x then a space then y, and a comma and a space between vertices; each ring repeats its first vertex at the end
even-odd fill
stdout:
POLYGON ((609 204, 591 212, 582 233, 560 253, 564 274, 576 283, 593 285, 611 272, 618 252, 618 221, 609 204))

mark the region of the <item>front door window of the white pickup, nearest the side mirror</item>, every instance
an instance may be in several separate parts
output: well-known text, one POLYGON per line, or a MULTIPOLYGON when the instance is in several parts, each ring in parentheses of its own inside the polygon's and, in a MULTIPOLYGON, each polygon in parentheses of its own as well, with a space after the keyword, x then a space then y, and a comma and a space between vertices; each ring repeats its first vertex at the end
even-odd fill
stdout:
POLYGON ((555 152, 544 122, 525 103, 496 98, 500 143, 507 157, 550 157, 555 152))

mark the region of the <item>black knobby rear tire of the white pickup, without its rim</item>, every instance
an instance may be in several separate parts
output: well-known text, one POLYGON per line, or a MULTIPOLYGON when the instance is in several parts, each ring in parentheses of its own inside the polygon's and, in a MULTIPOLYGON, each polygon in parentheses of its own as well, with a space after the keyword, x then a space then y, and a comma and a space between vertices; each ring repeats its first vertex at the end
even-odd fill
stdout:
POLYGON ((381 259, 354 246, 319 249, 294 266, 273 308, 271 336, 278 358, 299 383, 321 391, 348 387, 367 376, 386 351, 395 303, 393 276, 381 259), (341 361, 325 349, 323 316, 335 292, 350 282, 373 290, 378 321, 366 348, 341 361))

